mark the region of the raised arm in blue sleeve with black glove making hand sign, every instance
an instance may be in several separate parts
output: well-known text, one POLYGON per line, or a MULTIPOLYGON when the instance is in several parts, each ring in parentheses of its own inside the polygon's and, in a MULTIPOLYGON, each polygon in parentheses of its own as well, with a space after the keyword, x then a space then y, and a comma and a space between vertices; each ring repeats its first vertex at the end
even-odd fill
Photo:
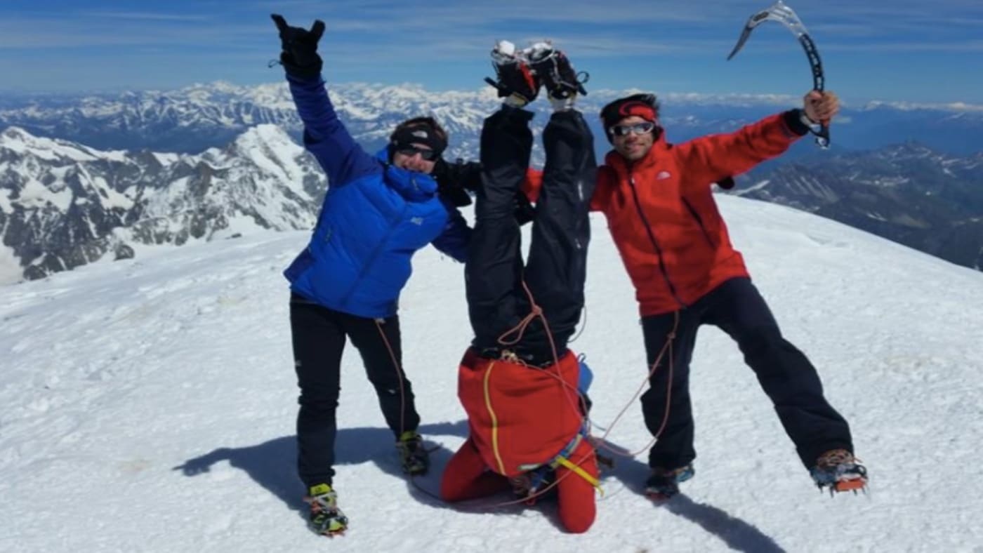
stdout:
POLYGON ((320 78, 318 40, 324 32, 323 22, 316 21, 308 30, 289 27, 279 15, 270 17, 280 32, 280 63, 286 71, 297 114, 304 122, 304 146, 320 163, 329 185, 344 185, 380 171, 376 159, 362 149, 338 119, 320 78))

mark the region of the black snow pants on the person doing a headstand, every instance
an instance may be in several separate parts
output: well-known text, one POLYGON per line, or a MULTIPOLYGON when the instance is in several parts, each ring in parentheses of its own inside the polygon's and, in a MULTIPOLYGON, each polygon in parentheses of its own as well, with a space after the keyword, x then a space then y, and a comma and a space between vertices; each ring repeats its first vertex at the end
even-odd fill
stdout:
POLYGON ((588 210, 597 180, 594 138, 578 111, 552 114, 543 132, 546 165, 523 264, 515 195, 526 179, 533 136, 528 111, 503 106, 485 121, 481 138, 482 187, 465 266, 474 348, 497 357, 509 350, 535 365, 562 357, 584 305, 588 210), (528 293, 527 289, 528 288, 528 293), (547 319, 534 320, 512 344, 506 335, 530 313, 529 297, 547 319))

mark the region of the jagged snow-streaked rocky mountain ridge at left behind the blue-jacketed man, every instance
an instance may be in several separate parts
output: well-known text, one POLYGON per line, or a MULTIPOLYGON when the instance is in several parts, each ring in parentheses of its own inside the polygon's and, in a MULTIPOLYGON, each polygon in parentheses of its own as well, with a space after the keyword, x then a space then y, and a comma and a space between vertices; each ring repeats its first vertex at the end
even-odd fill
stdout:
POLYGON ((0 134, 4 273, 34 279, 143 246, 308 229, 325 189, 317 162, 272 125, 195 155, 97 150, 8 128, 0 134))

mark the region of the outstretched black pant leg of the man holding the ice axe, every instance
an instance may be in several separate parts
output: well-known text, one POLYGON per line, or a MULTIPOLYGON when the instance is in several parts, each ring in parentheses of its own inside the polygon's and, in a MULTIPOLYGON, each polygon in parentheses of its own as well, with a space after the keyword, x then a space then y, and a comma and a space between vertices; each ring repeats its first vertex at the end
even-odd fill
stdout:
POLYGON ((707 322, 726 332, 744 354, 762 389, 775 405, 781 425, 807 469, 826 451, 853 451, 850 429, 823 396, 816 368, 781 336, 758 289, 747 278, 725 282, 711 293, 707 322))

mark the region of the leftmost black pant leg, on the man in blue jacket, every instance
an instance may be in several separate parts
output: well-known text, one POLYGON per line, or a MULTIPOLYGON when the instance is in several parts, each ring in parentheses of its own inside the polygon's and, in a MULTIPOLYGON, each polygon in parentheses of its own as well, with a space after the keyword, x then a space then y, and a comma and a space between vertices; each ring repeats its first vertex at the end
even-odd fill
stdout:
POLYGON ((297 471, 307 487, 330 484, 345 334, 335 311, 296 297, 290 302, 290 331, 301 390, 297 471))

